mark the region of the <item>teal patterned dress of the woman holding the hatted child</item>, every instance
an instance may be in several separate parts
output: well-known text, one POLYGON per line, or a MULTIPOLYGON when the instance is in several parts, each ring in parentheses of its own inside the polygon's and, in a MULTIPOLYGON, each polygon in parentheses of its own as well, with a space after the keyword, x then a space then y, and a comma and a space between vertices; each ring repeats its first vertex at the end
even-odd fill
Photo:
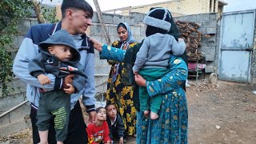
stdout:
MULTIPOLYGON (((127 58, 132 58, 131 55, 134 56, 137 52, 135 46, 134 51, 129 52, 127 50, 126 52, 126 50, 118 50, 104 45, 102 46, 101 58, 127 62, 127 58)), ((168 74, 156 81, 146 81, 146 89, 151 97, 157 94, 165 94, 165 97, 162 97, 158 119, 151 120, 144 117, 142 111, 137 111, 136 143, 187 143, 187 102, 185 91, 181 86, 186 82, 187 66, 182 58, 174 55, 171 55, 169 63, 170 72, 168 74)))

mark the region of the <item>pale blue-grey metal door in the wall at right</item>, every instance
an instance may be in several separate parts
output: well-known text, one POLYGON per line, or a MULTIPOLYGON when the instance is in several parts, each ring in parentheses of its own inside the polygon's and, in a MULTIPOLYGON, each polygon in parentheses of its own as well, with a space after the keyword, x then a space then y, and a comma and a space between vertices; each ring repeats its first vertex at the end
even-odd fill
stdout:
POLYGON ((250 82, 251 50, 254 42, 255 11, 222 15, 218 78, 250 82))

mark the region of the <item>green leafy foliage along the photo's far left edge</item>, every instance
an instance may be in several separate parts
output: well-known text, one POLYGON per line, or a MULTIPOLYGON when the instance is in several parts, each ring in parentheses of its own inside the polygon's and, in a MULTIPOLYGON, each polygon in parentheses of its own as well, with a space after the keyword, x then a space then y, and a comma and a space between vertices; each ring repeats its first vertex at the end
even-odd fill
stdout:
POLYGON ((1 0, 0 1, 0 82, 2 96, 9 94, 9 82, 13 76, 10 48, 14 34, 18 32, 18 21, 31 14, 30 1, 1 0))

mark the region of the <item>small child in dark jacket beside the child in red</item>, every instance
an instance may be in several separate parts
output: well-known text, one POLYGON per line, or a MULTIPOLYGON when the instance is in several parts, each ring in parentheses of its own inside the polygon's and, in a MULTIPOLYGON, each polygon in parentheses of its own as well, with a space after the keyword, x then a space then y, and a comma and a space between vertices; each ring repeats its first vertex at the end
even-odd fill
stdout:
POLYGON ((119 144, 126 143, 124 139, 125 126, 121 116, 118 114, 117 108, 114 104, 107 104, 105 109, 107 114, 106 122, 110 127, 110 138, 112 140, 117 138, 119 144))

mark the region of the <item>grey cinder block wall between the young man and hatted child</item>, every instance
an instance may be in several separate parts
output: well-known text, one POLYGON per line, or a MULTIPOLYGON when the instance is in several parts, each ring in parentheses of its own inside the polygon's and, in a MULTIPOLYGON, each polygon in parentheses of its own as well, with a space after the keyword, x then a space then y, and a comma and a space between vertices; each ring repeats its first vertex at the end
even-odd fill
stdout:
MULTIPOLYGON (((106 23, 106 30, 110 36, 110 41, 118 40, 117 26, 119 22, 126 22, 130 25, 134 39, 141 42, 145 38, 146 26, 142 24, 145 14, 132 13, 130 16, 123 16, 118 14, 102 14, 102 21, 106 23)), ((98 15, 94 12, 92 19, 93 26, 90 26, 90 33, 92 38, 96 38, 99 42, 106 43, 106 38, 102 32, 102 26, 99 23, 98 15)), ((95 52, 95 78, 97 91, 106 92, 106 82, 110 72, 110 65, 106 60, 99 59, 99 53, 95 52)))

